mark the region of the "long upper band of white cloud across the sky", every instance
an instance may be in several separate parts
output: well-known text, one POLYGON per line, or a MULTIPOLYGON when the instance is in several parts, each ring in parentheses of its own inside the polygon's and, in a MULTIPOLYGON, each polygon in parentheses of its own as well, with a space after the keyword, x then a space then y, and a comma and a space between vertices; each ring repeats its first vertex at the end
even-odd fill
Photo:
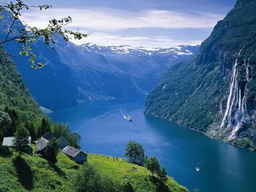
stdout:
POLYGON ((88 31, 120 31, 129 28, 213 28, 223 15, 207 13, 183 13, 165 10, 142 10, 137 12, 117 9, 49 9, 24 12, 22 19, 31 26, 46 26, 50 18, 71 16, 70 28, 88 31))

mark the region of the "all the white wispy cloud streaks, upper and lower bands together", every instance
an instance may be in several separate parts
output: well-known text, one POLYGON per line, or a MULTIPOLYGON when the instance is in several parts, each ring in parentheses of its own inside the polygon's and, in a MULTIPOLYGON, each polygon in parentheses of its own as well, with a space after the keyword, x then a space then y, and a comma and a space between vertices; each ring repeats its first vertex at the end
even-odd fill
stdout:
POLYGON ((184 41, 174 40, 169 36, 142 34, 131 35, 126 32, 132 30, 159 31, 182 30, 184 28, 196 28, 209 30, 213 28, 223 15, 178 12, 166 10, 142 10, 139 12, 121 11, 106 8, 83 9, 49 9, 47 11, 30 10, 22 14, 21 19, 29 26, 45 27, 52 18, 71 16, 73 22, 68 25, 70 29, 79 28, 80 31, 93 34, 85 41, 73 41, 74 43, 92 42, 101 45, 131 45, 131 46, 161 46, 170 47, 179 44, 200 44, 202 40, 184 41))

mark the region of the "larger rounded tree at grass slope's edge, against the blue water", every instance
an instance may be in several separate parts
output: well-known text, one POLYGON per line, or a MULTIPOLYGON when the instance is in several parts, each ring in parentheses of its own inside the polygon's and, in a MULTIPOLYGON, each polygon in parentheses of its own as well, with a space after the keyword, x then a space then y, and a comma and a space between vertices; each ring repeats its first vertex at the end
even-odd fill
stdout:
POLYGON ((129 141, 124 156, 127 156, 132 164, 143 165, 145 159, 144 151, 145 150, 141 144, 129 141))

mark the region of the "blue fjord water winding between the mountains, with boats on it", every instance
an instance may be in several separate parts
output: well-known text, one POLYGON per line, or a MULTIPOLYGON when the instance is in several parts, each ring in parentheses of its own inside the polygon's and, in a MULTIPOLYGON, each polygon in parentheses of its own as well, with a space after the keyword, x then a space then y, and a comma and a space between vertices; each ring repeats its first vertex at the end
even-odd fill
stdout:
POLYGON ((172 122, 144 116, 145 98, 90 102, 55 111, 53 121, 70 122, 83 151, 124 156, 133 140, 156 156, 168 174, 189 191, 255 191, 256 153, 205 137, 172 122), (119 111, 132 117, 125 120, 119 111), (196 171, 196 167, 200 171, 196 171))

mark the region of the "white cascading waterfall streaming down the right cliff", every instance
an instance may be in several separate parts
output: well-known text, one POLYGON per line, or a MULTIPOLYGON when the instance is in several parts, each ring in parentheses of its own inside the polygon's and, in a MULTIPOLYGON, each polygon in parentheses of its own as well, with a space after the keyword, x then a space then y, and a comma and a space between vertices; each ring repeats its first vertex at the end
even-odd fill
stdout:
MULTIPOLYGON (((245 60, 245 79, 249 82, 249 62, 245 60)), ((220 129, 228 128, 232 129, 228 140, 235 138, 236 133, 242 127, 242 124, 247 122, 247 87, 245 85, 244 91, 241 90, 241 85, 238 85, 238 58, 235 59, 233 66, 233 73, 230 82, 230 90, 228 95, 228 101, 223 115, 223 119, 220 123, 220 129)))

